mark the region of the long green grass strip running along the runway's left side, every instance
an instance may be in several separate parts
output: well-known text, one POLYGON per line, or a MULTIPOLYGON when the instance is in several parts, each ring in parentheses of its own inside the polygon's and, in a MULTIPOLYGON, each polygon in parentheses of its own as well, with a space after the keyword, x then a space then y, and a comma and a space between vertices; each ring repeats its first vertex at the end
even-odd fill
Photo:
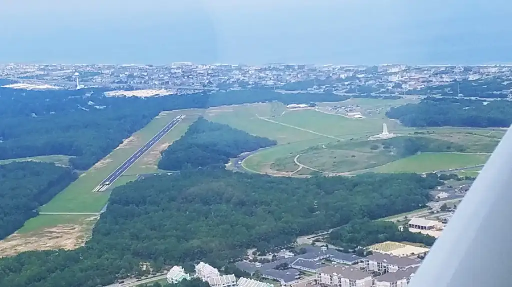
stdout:
MULTIPOLYGON (((200 110, 187 110, 186 112, 173 111, 162 113, 151 123, 137 131, 130 140, 125 141, 125 143, 112 151, 100 163, 81 174, 75 182, 57 194, 48 204, 42 206, 40 211, 99 212, 108 201, 110 191, 92 192, 92 190, 136 152, 137 149, 157 134, 169 121, 183 113, 197 114, 199 112, 200 110)), ((126 180, 126 178, 123 180, 126 180)), ((115 183, 114 186, 121 184, 123 180, 120 179, 120 183, 115 183)))

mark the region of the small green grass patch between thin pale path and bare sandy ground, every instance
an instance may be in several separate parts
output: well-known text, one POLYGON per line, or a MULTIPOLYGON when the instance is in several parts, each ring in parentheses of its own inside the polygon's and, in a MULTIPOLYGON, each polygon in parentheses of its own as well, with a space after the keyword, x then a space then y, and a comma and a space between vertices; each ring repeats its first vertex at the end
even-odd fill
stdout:
POLYGON ((17 233, 28 233, 44 229, 46 227, 54 227, 59 224, 82 224, 85 219, 94 215, 76 215, 76 214, 39 214, 30 218, 20 228, 17 233))

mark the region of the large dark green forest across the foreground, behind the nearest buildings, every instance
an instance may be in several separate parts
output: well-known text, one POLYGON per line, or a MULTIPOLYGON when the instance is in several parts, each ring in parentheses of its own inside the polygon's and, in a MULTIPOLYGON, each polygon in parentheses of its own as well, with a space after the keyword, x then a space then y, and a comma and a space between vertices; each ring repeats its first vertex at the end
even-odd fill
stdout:
POLYGON ((222 267, 245 250, 280 249, 296 236, 423 207, 435 174, 274 178, 223 169, 152 176, 112 192, 86 246, 0 260, 0 285, 96 287, 205 260, 222 267), (143 191, 143 192, 142 192, 143 191))

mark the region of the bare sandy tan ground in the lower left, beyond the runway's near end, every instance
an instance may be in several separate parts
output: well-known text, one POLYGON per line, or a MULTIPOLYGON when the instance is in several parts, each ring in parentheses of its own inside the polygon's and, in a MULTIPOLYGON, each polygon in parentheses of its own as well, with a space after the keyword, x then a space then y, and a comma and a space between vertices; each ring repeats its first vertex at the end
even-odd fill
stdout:
POLYGON ((29 233, 14 233, 0 241, 0 257, 30 250, 76 249, 92 235, 99 216, 84 219, 81 224, 61 224, 29 233))

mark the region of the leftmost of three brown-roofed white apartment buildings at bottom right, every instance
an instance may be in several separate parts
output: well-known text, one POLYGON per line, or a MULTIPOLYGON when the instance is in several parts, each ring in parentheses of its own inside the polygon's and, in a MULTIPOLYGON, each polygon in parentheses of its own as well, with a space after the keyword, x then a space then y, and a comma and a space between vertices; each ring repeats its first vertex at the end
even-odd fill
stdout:
POLYGON ((351 266, 326 266, 318 271, 316 281, 321 286, 373 287, 374 285, 370 273, 351 266))

